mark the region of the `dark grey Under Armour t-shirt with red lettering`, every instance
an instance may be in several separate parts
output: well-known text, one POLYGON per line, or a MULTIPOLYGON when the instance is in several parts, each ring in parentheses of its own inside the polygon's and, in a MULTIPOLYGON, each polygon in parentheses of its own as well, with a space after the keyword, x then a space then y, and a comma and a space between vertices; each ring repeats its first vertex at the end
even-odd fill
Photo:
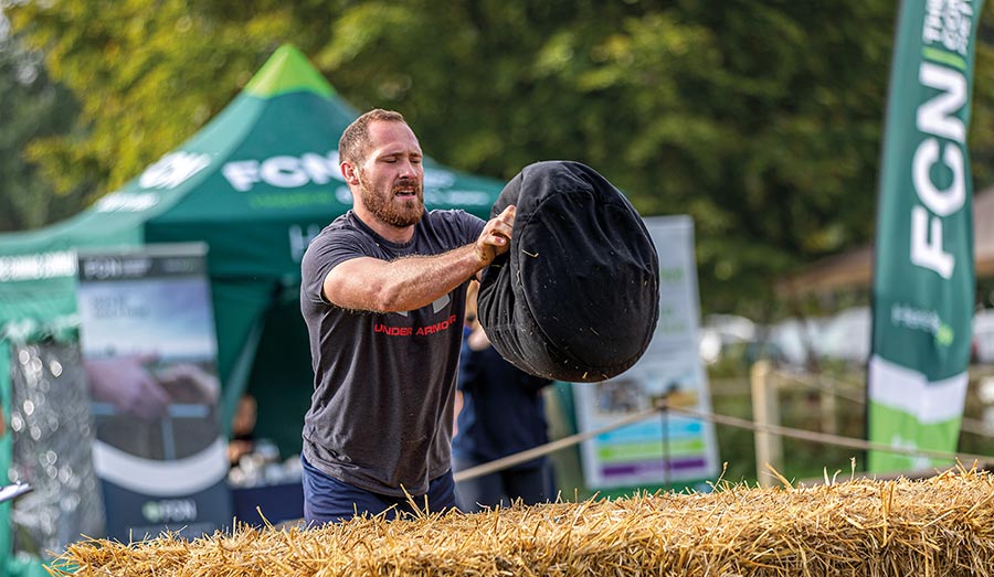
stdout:
POLYGON ((466 285, 405 312, 346 310, 321 285, 350 258, 435 255, 476 241, 484 222, 464 211, 426 212, 403 245, 351 211, 310 243, 300 265, 300 311, 310 334, 314 395, 304 457, 327 474, 380 494, 427 492, 451 467, 456 370, 466 285))

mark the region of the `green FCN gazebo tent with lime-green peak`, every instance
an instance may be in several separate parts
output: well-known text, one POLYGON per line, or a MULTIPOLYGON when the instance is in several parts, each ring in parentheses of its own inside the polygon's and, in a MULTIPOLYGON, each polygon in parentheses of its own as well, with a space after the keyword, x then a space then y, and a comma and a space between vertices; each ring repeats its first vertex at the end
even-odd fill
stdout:
MULTIPOLYGON (((251 389, 261 397, 258 434, 281 448, 299 444, 311 387, 297 304, 299 259, 309 238, 350 207, 337 149, 357 116, 299 51, 285 45, 210 124, 120 190, 65 222, 0 235, 4 412, 9 343, 73 338, 77 249, 197 242, 208 246, 224 414, 251 389)), ((430 209, 486 217, 504 184, 431 159, 424 165, 430 209)), ((0 470, 10 455, 6 435, 0 470)), ((0 557, 10 551, 9 506, 0 505, 0 557)))

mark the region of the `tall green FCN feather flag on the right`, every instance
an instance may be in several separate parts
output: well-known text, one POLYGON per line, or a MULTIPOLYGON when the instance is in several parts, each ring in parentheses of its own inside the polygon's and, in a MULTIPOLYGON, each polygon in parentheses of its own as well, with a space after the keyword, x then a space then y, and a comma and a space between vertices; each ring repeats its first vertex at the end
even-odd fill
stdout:
MULTIPOLYGON (((954 452, 970 363, 972 177, 966 151, 982 1, 905 0, 880 173, 868 439, 954 452)), ((873 472, 951 461, 870 451, 873 472)))

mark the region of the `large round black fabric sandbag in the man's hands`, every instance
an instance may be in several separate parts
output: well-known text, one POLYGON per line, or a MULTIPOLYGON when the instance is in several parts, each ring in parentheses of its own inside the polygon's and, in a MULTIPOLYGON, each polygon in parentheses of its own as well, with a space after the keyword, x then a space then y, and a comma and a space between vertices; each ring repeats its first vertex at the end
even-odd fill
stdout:
POLYGON ((484 271, 479 321, 518 368, 604 381, 645 353, 659 318, 659 260, 642 217, 596 171, 529 164, 501 191, 517 206, 510 249, 484 271))

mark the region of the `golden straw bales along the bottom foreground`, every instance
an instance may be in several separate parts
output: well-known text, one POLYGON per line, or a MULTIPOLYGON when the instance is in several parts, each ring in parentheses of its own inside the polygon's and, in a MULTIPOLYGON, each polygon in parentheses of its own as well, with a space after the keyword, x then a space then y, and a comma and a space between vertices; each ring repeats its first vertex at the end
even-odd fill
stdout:
POLYGON ((84 541, 54 575, 963 576, 994 575, 994 477, 723 483, 583 503, 387 522, 237 530, 192 542, 84 541))

